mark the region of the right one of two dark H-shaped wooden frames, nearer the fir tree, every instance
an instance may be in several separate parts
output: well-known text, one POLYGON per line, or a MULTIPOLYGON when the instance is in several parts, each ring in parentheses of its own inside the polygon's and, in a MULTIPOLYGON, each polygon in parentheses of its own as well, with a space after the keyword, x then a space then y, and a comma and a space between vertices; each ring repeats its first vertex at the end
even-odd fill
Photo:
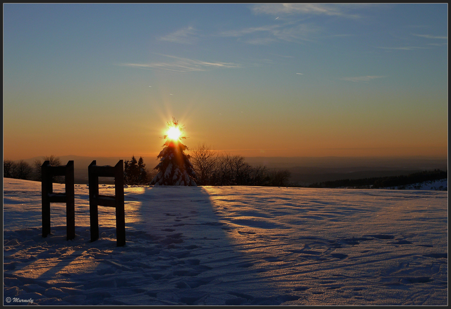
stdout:
POLYGON ((98 206, 116 209, 116 244, 125 245, 125 207, 124 207, 124 169, 119 160, 115 166, 98 166, 96 160, 88 166, 89 182, 89 221, 91 241, 99 238, 98 206), (99 177, 114 177, 114 196, 99 194, 99 177))

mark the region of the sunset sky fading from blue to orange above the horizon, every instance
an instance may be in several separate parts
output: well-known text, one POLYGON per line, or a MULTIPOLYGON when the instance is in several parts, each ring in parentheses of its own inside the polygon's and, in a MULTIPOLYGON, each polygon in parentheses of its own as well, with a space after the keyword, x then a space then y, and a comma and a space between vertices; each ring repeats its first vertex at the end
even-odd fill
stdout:
POLYGON ((448 4, 3 4, 3 158, 448 155, 448 4))

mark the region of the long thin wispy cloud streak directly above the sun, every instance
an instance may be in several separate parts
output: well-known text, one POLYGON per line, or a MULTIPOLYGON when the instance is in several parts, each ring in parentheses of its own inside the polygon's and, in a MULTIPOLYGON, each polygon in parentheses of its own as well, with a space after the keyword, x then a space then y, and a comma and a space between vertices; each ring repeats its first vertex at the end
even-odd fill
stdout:
POLYGON ((241 65, 230 62, 207 62, 188 58, 180 58, 165 55, 172 58, 170 62, 151 62, 151 63, 123 63, 122 66, 140 68, 140 69, 160 69, 174 72, 193 72, 193 71, 210 71, 213 69, 230 69, 240 68, 241 65))

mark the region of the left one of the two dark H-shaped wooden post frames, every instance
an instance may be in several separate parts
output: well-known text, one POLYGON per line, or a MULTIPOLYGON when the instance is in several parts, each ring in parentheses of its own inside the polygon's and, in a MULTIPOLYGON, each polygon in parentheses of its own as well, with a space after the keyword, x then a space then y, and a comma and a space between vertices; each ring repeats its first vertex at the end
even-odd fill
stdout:
POLYGON ((66 203, 67 239, 75 238, 75 189, 74 161, 66 165, 52 166, 44 161, 41 166, 42 188, 42 237, 50 234, 50 203, 66 203), (65 193, 53 193, 53 176, 65 177, 65 193))

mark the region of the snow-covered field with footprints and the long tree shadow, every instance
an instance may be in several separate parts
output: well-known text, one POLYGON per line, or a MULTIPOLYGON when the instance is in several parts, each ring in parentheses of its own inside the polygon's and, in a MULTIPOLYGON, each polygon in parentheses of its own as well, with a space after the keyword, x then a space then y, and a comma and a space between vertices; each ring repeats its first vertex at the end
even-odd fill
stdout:
POLYGON ((42 238, 40 183, 3 182, 3 305, 448 304, 448 192, 128 187, 116 247, 87 186, 68 241, 65 204, 42 238))

